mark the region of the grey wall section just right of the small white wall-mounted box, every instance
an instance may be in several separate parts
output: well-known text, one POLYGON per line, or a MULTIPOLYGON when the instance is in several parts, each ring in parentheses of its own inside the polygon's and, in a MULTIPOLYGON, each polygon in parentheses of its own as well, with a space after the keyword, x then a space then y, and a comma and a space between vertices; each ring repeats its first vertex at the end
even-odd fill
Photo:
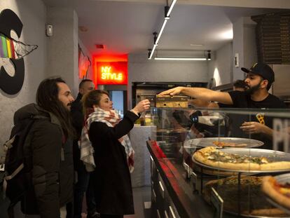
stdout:
POLYGON ((48 76, 62 76, 74 95, 78 93, 78 17, 71 8, 48 7, 53 25, 48 38, 48 76))

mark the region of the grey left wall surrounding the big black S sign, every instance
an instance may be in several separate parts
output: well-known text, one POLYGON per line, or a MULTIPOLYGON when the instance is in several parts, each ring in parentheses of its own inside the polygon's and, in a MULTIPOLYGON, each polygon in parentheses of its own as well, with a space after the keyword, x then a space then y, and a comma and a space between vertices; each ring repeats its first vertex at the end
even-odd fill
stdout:
POLYGON ((25 104, 35 102, 35 95, 40 81, 46 77, 46 6, 39 0, 0 1, 0 11, 14 11, 23 23, 20 39, 14 33, 13 38, 39 48, 24 57, 25 81, 20 92, 7 95, 0 90, 0 144, 9 137, 13 125, 13 114, 25 104))

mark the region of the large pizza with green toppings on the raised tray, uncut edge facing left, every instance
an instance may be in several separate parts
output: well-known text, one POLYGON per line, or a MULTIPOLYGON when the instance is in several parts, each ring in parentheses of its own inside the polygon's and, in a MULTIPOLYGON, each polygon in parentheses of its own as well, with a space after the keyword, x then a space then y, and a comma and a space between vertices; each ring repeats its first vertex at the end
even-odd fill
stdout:
POLYGON ((226 170, 285 170, 290 169, 290 161, 270 161, 263 156, 247 156, 226 153, 216 147, 205 147, 193 154, 195 161, 214 168, 226 170))

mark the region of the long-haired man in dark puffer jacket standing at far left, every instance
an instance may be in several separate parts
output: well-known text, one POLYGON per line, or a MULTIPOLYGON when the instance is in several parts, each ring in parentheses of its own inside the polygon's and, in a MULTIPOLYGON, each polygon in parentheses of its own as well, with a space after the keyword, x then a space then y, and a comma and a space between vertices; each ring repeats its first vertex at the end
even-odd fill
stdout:
POLYGON ((26 217, 71 216, 66 205, 73 200, 74 131, 69 116, 73 101, 69 86, 60 77, 48 78, 39 84, 37 104, 28 104, 14 114, 15 125, 25 118, 35 119, 27 135, 31 169, 26 170, 31 170, 32 184, 22 198, 26 217))

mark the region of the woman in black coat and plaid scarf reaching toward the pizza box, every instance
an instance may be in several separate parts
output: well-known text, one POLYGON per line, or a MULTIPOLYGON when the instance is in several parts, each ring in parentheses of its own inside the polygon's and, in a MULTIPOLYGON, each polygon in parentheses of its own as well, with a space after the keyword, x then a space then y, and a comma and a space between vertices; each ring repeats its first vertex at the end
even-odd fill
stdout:
POLYGON ((105 91, 88 93, 83 97, 83 105, 87 119, 81 136, 81 150, 90 146, 94 149, 93 161, 88 155, 84 162, 95 167, 92 181, 97 212, 101 218, 134 214, 130 177, 134 151, 127 133, 133 128, 139 113, 149 109, 150 102, 139 102, 125 113, 123 120, 113 110, 113 103, 105 91))

